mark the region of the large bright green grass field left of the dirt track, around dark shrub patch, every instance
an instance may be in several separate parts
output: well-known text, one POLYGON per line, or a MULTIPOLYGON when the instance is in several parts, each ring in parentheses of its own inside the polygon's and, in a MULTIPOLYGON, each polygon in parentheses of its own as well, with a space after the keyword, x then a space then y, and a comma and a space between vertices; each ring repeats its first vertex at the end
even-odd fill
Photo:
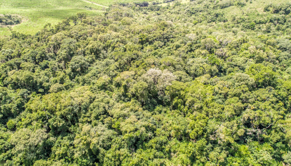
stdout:
POLYGON ((98 15, 105 9, 81 0, 1 0, 0 8, 0 14, 16 14, 23 18, 21 24, 0 28, 0 36, 10 35, 11 30, 33 35, 46 23, 54 25, 82 11, 91 16, 98 15))

